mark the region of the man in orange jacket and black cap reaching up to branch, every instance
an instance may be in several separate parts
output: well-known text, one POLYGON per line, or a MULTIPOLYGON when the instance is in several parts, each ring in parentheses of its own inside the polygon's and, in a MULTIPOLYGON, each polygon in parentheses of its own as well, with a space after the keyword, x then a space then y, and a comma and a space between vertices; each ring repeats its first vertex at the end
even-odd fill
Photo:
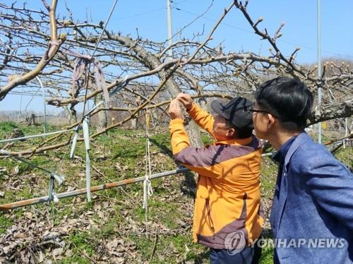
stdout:
POLYGON ((193 240, 210 248, 211 263, 257 263, 251 244, 261 236, 261 142, 252 134, 249 108, 242 97, 215 100, 214 116, 204 112, 190 95, 172 100, 169 129, 174 160, 199 174, 193 215, 193 240), (215 143, 190 147, 179 102, 215 143))

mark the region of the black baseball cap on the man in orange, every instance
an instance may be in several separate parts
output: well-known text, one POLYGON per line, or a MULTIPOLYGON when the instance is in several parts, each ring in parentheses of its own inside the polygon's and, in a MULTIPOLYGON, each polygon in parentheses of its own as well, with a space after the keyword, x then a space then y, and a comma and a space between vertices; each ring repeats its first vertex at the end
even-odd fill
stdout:
POLYGON ((253 128, 252 113, 249 108, 253 107, 253 102, 244 97, 234 97, 228 102, 214 100, 211 108, 220 116, 228 119, 237 128, 253 128))

